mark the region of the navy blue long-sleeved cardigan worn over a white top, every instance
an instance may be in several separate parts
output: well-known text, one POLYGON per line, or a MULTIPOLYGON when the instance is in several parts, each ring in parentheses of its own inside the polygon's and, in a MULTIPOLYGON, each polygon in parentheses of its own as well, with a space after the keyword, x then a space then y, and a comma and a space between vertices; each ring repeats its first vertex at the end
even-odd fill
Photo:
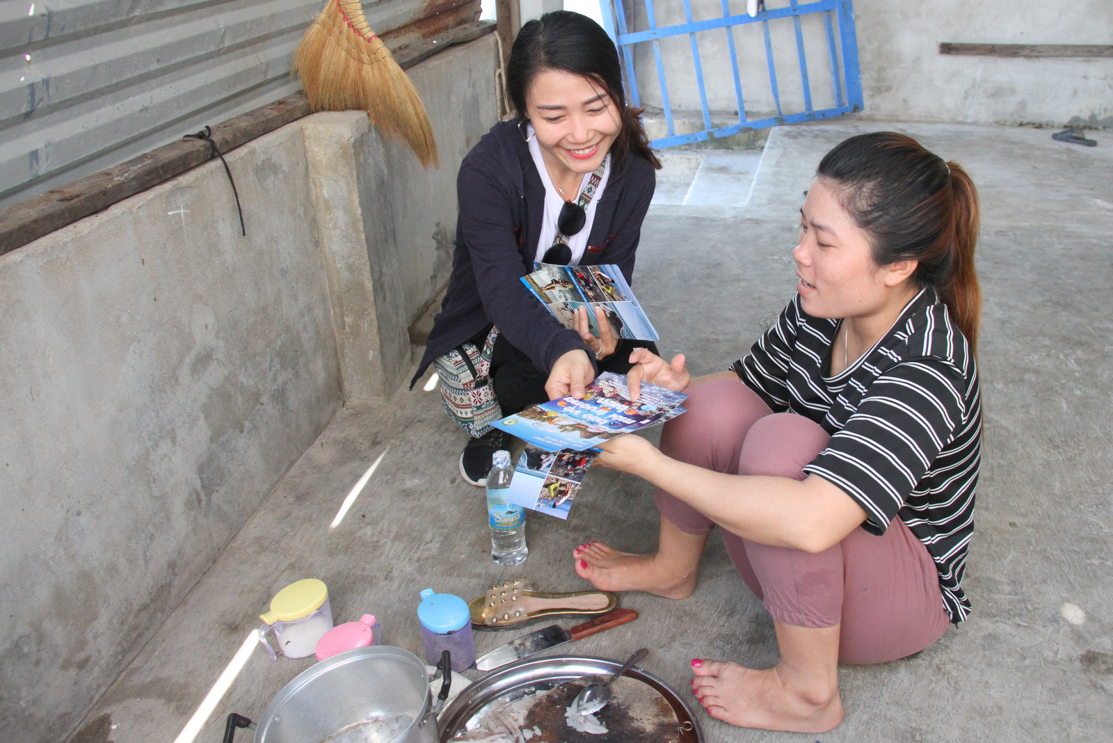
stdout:
MULTIPOLYGON (((581 265, 618 264, 631 285, 641 222, 653 198, 653 167, 636 152, 611 164, 581 265)), ((545 189, 514 122, 491 128, 456 177, 460 214, 452 276, 410 387, 439 356, 492 323, 542 371, 577 348, 588 351, 519 280, 533 270, 545 189)))

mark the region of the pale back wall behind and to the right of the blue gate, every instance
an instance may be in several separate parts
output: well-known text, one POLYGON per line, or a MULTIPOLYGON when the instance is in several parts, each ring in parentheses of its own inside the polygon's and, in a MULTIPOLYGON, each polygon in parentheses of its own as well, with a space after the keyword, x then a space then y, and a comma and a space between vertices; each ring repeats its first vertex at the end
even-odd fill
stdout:
MULTIPOLYGON (((634 9, 637 29, 647 27, 642 3, 634 9)), ((731 0, 731 13, 745 13, 743 0, 731 0)), ((788 0, 768 0, 768 7, 788 0)), ((658 26, 683 22, 680 3, 654 4, 658 26)), ((943 56, 951 42, 1094 43, 1113 40, 1113 3, 1080 0, 1047 3, 972 3, 961 0, 857 0, 854 3, 865 118, 878 120, 971 123, 1084 121, 1113 126, 1113 58, 1015 59, 943 56)), ((721 17, 718 0, 696 0, 697 20, 721 17)), ((816 109, 831 106, 823 21, 802 19, 808 72, 816 109)), ((789 20, 770 23, 778 83, 785 111, 801 111, 802 89, 796 39, 789 20)), ((697 34, 712 110, 737 110, 726 32, 697 34)), ((738 27, 735 42, 749 118, 774 109, 761 24, 738 27)), ((673 109, 698 110, 699 95, 687 36, 661 41, 666 79, 673 109)), ((656 61, 648 43, 636 47, 642 101, 660 106, 656 61)))

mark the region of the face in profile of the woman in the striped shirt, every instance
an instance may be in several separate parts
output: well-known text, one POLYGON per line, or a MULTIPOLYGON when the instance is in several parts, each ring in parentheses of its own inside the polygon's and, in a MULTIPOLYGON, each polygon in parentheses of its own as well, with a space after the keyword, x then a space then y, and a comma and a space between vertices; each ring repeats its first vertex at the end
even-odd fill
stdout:
POLYGON ((800 209, 792 260, 800 304, 812 317, 887 317, 917 290, 909 279, 916 261, 877 266, 866 232, 843 209, 831 184, 819 178, 800 209))

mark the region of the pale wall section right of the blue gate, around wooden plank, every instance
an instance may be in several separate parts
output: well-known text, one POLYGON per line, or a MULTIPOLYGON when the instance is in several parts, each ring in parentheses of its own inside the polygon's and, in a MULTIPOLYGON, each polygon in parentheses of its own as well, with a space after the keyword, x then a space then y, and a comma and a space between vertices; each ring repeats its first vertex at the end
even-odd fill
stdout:
POLYGON ((938 53, 940 41, 1113 43, 1113 2, 858 0, 866 116, 1113 126, 1113 58, 938 53))

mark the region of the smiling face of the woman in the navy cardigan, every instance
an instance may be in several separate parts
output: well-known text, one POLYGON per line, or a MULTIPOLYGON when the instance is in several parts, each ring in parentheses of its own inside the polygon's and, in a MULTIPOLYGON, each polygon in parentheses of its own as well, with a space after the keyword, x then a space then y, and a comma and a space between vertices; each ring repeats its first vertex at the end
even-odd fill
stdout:
POLYGON ((554 180, 598 168, 622 126, 602 86, 562 70, 545 70, 533 78, 525 93, 525 113, 554 180))

